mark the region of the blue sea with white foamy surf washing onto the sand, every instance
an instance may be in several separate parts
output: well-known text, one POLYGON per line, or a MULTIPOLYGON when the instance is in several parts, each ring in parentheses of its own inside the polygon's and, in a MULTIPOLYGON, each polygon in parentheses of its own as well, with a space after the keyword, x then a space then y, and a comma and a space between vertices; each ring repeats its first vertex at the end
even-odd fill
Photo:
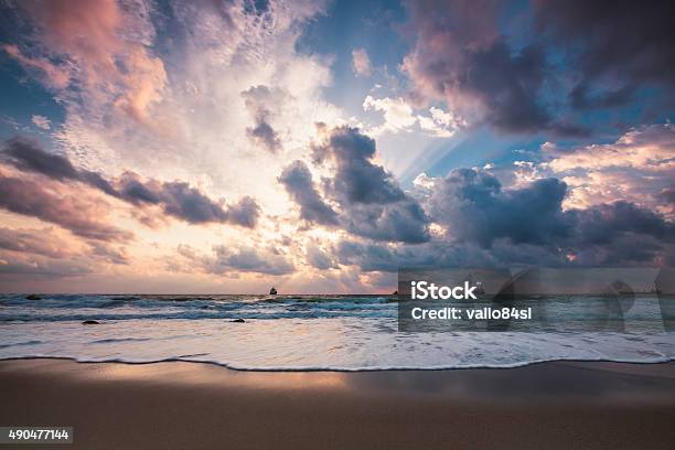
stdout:
MULTIPOLYGON (((564 300, 560 308, 586 299, 564 300)), ((392 297, 1 294, 0 360, 189 361, 240 371, 672 361, 675 332, 664 330, 657 301, 638 300, 640 326, 622 331, 401 332, 392 297)))

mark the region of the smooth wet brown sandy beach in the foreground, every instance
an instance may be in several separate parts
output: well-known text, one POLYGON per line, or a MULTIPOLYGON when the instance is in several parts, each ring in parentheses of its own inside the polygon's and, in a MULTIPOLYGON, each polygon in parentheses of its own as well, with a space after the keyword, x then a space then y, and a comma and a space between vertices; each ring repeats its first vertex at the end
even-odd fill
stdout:
POLYGON ((1 425, 73 426, 74 449, 675 446, 675 363, 274 373, 14 360, 0 362, 0 398, 1 425))

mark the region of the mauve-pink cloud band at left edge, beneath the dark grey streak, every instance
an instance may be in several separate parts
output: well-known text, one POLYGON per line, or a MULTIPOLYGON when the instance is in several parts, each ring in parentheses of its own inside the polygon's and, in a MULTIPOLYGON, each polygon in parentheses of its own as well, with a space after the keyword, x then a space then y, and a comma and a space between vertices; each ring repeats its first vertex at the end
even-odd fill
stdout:
POLYGON ((38 217, 92 239, 128 240, 131 233, 100 222, 100 207, 84 199, 60 196, 28 180, 0 178, 0 207, 38 217))

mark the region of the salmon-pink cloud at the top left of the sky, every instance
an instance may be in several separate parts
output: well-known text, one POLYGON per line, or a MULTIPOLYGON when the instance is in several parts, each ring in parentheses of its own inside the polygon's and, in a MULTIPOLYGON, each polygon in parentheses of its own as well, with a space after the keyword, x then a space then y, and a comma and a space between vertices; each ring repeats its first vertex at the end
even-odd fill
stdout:
POLYGON ((167 83, 164 65, 148 51, 148 7, 142 1, 122 8, 115 0, 20 2, 35 24, 44 53, 63 61, 55 66, 45 56, 4 50, 19 63, 42 69, 57 89, 74 79, 96 104, 113 105, 133 119, 148 122, 148 108, 161 99, 167 83))

